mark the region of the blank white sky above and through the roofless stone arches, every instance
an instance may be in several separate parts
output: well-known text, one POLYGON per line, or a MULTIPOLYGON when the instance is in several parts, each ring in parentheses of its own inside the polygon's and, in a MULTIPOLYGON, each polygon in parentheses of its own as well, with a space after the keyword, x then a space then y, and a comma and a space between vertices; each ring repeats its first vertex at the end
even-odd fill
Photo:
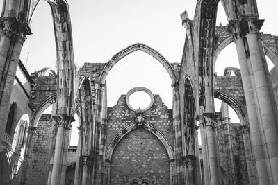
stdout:
MULTIPOLYGON (((2 2, 0 0, 1 5, 2 2)), ((115 53, 137 42, 151 46, 169 62, 181 62, 186 30, 181 26, 179 15, 187 10, 193 19, 196 0, 69 0, 68 3, 74 62, 77 67, 82 67, 84 62, 108 62, 115 53)), ((278 35, 278 1, 257 3, 260 18, 265 19, 262 31, 278 35)), ((218 24, 227 24, 221 3, 218 10, 218 24)), ((28 36, 22 49, 22 62, 30 73, 43 67, 55 68, 54 30, 46 2, 42 2, 35 13, 31 30, 33 35, 28 36)), ((234 44, 220 53, 215 71, 221 75, 225 67, 238 67, 234 44)), ((120 60, 108 74, 107 81, 109 107, 117 103, 120 94, 126 94, 136 86, 160 94, 165 105, 172 107, 170 77, 158 61, 141 51, 120 60)), ((219 106, 215 111, 219 111, 219 106)))

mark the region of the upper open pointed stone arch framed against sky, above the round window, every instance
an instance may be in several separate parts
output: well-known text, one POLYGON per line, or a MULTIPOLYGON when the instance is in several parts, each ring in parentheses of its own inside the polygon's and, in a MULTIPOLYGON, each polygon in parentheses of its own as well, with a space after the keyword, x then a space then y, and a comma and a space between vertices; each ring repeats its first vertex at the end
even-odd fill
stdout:
POLYGON ((158 60, 158 62, 160 62, 163 65, 163 67, 165 67, 167 72, 169 73, 173 84, 178 81, 176 73, 174 72, 172 65, 163 57, 163 55, 161 55, 161 53, 158 53, 158 51, 152 49, 151 47, 149 47, 145 44, 137 43, 137 44, 133 44, 133 45, 127 47, 126 49, 123 49, 122 51, 118 52, 111 58, 111 60, 109 60, 106 63, 104 69, 101 71, 101 75, 99 77, 99 82, 104 84, 105 80, 106 80, 106 76, 108 75, 108 72, 113 68, 113 66, 117 62, 119 62, 122 58, 124 58, 126 55, 129 55, 138 50, 145 52, 145 53, 151 55, 152 57, 154 57, 156 60, 158 60))

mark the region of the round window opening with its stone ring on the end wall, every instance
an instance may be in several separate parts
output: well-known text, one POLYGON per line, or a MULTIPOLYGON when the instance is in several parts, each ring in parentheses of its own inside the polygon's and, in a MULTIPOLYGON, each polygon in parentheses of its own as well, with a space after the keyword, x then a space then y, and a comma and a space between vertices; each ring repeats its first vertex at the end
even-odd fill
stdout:
POLYGON ((145 111, 152 107, 153 103, 154 96, 152 91, 145 87, 135 87, 126 94, 126 104, 133 111, 138 109, 145 111))

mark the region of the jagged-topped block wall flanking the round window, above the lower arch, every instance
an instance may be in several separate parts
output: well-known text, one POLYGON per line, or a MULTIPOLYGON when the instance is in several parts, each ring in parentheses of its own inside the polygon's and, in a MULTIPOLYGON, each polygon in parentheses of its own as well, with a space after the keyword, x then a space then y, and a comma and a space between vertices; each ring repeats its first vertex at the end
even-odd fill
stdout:
MULTIPOLYGON (((113 108, 108 107, 106 148, 108 148, 118 132, 123 130, 124 127, 134 123, 135 114, 136 113, 126 105, 126 95, 120 96, 117 105, 113 108)), ((143 116, 145 116, 145 122, 162 132, 173 148, 174 134, 172 131, 172 109, 168 109, 166 105, 164 105, 159 95, 154 95, 154 105, 143 114, 143 116)))

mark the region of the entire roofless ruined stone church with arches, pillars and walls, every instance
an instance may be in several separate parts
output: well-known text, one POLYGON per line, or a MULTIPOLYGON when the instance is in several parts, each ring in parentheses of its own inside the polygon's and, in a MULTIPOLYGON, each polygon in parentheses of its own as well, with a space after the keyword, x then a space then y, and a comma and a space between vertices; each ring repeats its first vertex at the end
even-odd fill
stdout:
POLYGON ((57 71, 30 74, 20 53, 32 37, 30 23, 40 0, 3 0, 0 184, 278 184, 278 37, 260 32, 256 0, 221 2, 227 26, 215 25, 219 0, 197 0, 192 19, 181 14, 185 42, 179 62, 136 43, 106 63, 85 63, 77 70, 67 1, 48 0, 57 71), (229 44, 236 44, 240 69, 228 67, 217 76, 215 61, 229 44), (107 106, 106 76, 135 51, 165 67, 172 107, 146 87, 134 87, 107 106), (270 72, 265 56, 275 65, 270 72), (145 109, 129 103, 138 91, 151 99, 145 109), (214 98, 222 101, 221 112, 215 112, 214 98), (52 114, 43 114, 49 105, 52 114), (240 123, 230 122, 228 106, 240 123), (79 138, 70 146, 74 114, 79 138))

